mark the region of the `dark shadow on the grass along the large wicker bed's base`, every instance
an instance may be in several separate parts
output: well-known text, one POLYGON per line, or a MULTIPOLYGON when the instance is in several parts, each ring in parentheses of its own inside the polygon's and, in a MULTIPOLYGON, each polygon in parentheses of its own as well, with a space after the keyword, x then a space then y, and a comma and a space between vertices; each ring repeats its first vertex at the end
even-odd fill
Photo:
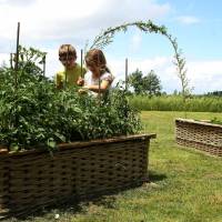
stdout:
MULTIPOLYGON (((158 182, 167 179, 165 174, 160 174, 154 171, 149 171, 149 180, 148 182, 158 182)), ((73 216, 78 213, 84 213, 90 205, 98 205, 98 206, 104 206, 107 209, 115 209, 115 201, 119 198, 118 194, 120 194, 123 191, 133 190, 135 188, 140 188, 142 183, 135 183, 134 185, 125 186, 125 188, 119 188, 114 190, 110 190, 102 193, 94 193, 85 196, 69 196, 69 199, 58 200, 57 203, 51 204, 50 206, 39 206, 30 210, 29 212, 22 214, 22 215, 16 215, 13 219, 9 218, 6 220, 6 222, 31 222, 31 221, 60 221, 57 220, 54 216, 56 214, 59 215, 65 215, 65 216, 73 216)), ((69 220, 65 220, 69 221, 69 220)))

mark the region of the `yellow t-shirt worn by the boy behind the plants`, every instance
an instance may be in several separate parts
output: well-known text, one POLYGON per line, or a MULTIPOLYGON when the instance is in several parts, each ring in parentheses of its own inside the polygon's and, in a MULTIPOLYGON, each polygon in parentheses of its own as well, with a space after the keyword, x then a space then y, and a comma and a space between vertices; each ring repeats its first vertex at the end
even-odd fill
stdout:
MULTIPOLYGON (((87 70, 82 68, 82 78, 84 77, 87 70)), ((81 67, 77 63, 75 67, 71 70, 60 71, 56 75, 56 84, 57 88, 63 88, 65 81, 65 73, 67 73, 67 85, 72 87, 77 85, 78 79, 81 77, 81 67)))

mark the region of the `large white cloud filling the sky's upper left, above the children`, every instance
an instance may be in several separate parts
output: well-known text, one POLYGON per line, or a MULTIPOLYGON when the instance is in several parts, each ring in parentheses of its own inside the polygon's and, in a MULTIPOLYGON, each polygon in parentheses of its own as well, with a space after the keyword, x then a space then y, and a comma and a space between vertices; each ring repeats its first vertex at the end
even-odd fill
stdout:
MULTIPOLYGON (((153 0, 0 0, 0 52, 2 39, 16 41, 17 22, 21 22, 21 43, 84 44, 101 29, 135 20, 161 18, 169 4, 153 0)), ((6 43, 4 42, 4 43, 6 43)), ((12 48, 12 47, 11 47, 12 48)))

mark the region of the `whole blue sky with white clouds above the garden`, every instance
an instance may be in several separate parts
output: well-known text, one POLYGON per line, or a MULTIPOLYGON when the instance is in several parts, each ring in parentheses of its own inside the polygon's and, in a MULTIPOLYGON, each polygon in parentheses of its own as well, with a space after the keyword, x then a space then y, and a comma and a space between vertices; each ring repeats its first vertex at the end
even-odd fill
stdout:
MULTIPOLYGON (((52 77, 62 69, 60 44, 71 43, 79 52, 102 29, 151 19, 178 39, 193 93, 222 90, 221 9, 221 0, 0 0, 0 62, 16 49, 18 21, 21 44, 48 52, 47 75, 52 77)), ((138 68, 147 74, 152 69, 163 91, 181 90, 172 47, 162 36, 131 28, 118 33, 104 52, 115 82, 123 79, 128 58, 129 72, 138 68)))

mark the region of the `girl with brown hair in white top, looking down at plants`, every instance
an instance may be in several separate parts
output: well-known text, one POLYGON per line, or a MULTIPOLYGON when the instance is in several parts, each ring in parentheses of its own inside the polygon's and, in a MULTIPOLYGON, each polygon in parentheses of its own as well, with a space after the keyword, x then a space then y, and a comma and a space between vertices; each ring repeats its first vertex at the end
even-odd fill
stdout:
MULTIPOLYGON (((91 49, 87 53, 84 61, 89 71, 84 75, 84 85, 80 93, 87 90, 90 90, 94 95, 105 93, 112 84, 114 77, 107 67, 103 52, 100 49, 91 49)), ((79 81, 82 83, 81 79, 79 81)))

